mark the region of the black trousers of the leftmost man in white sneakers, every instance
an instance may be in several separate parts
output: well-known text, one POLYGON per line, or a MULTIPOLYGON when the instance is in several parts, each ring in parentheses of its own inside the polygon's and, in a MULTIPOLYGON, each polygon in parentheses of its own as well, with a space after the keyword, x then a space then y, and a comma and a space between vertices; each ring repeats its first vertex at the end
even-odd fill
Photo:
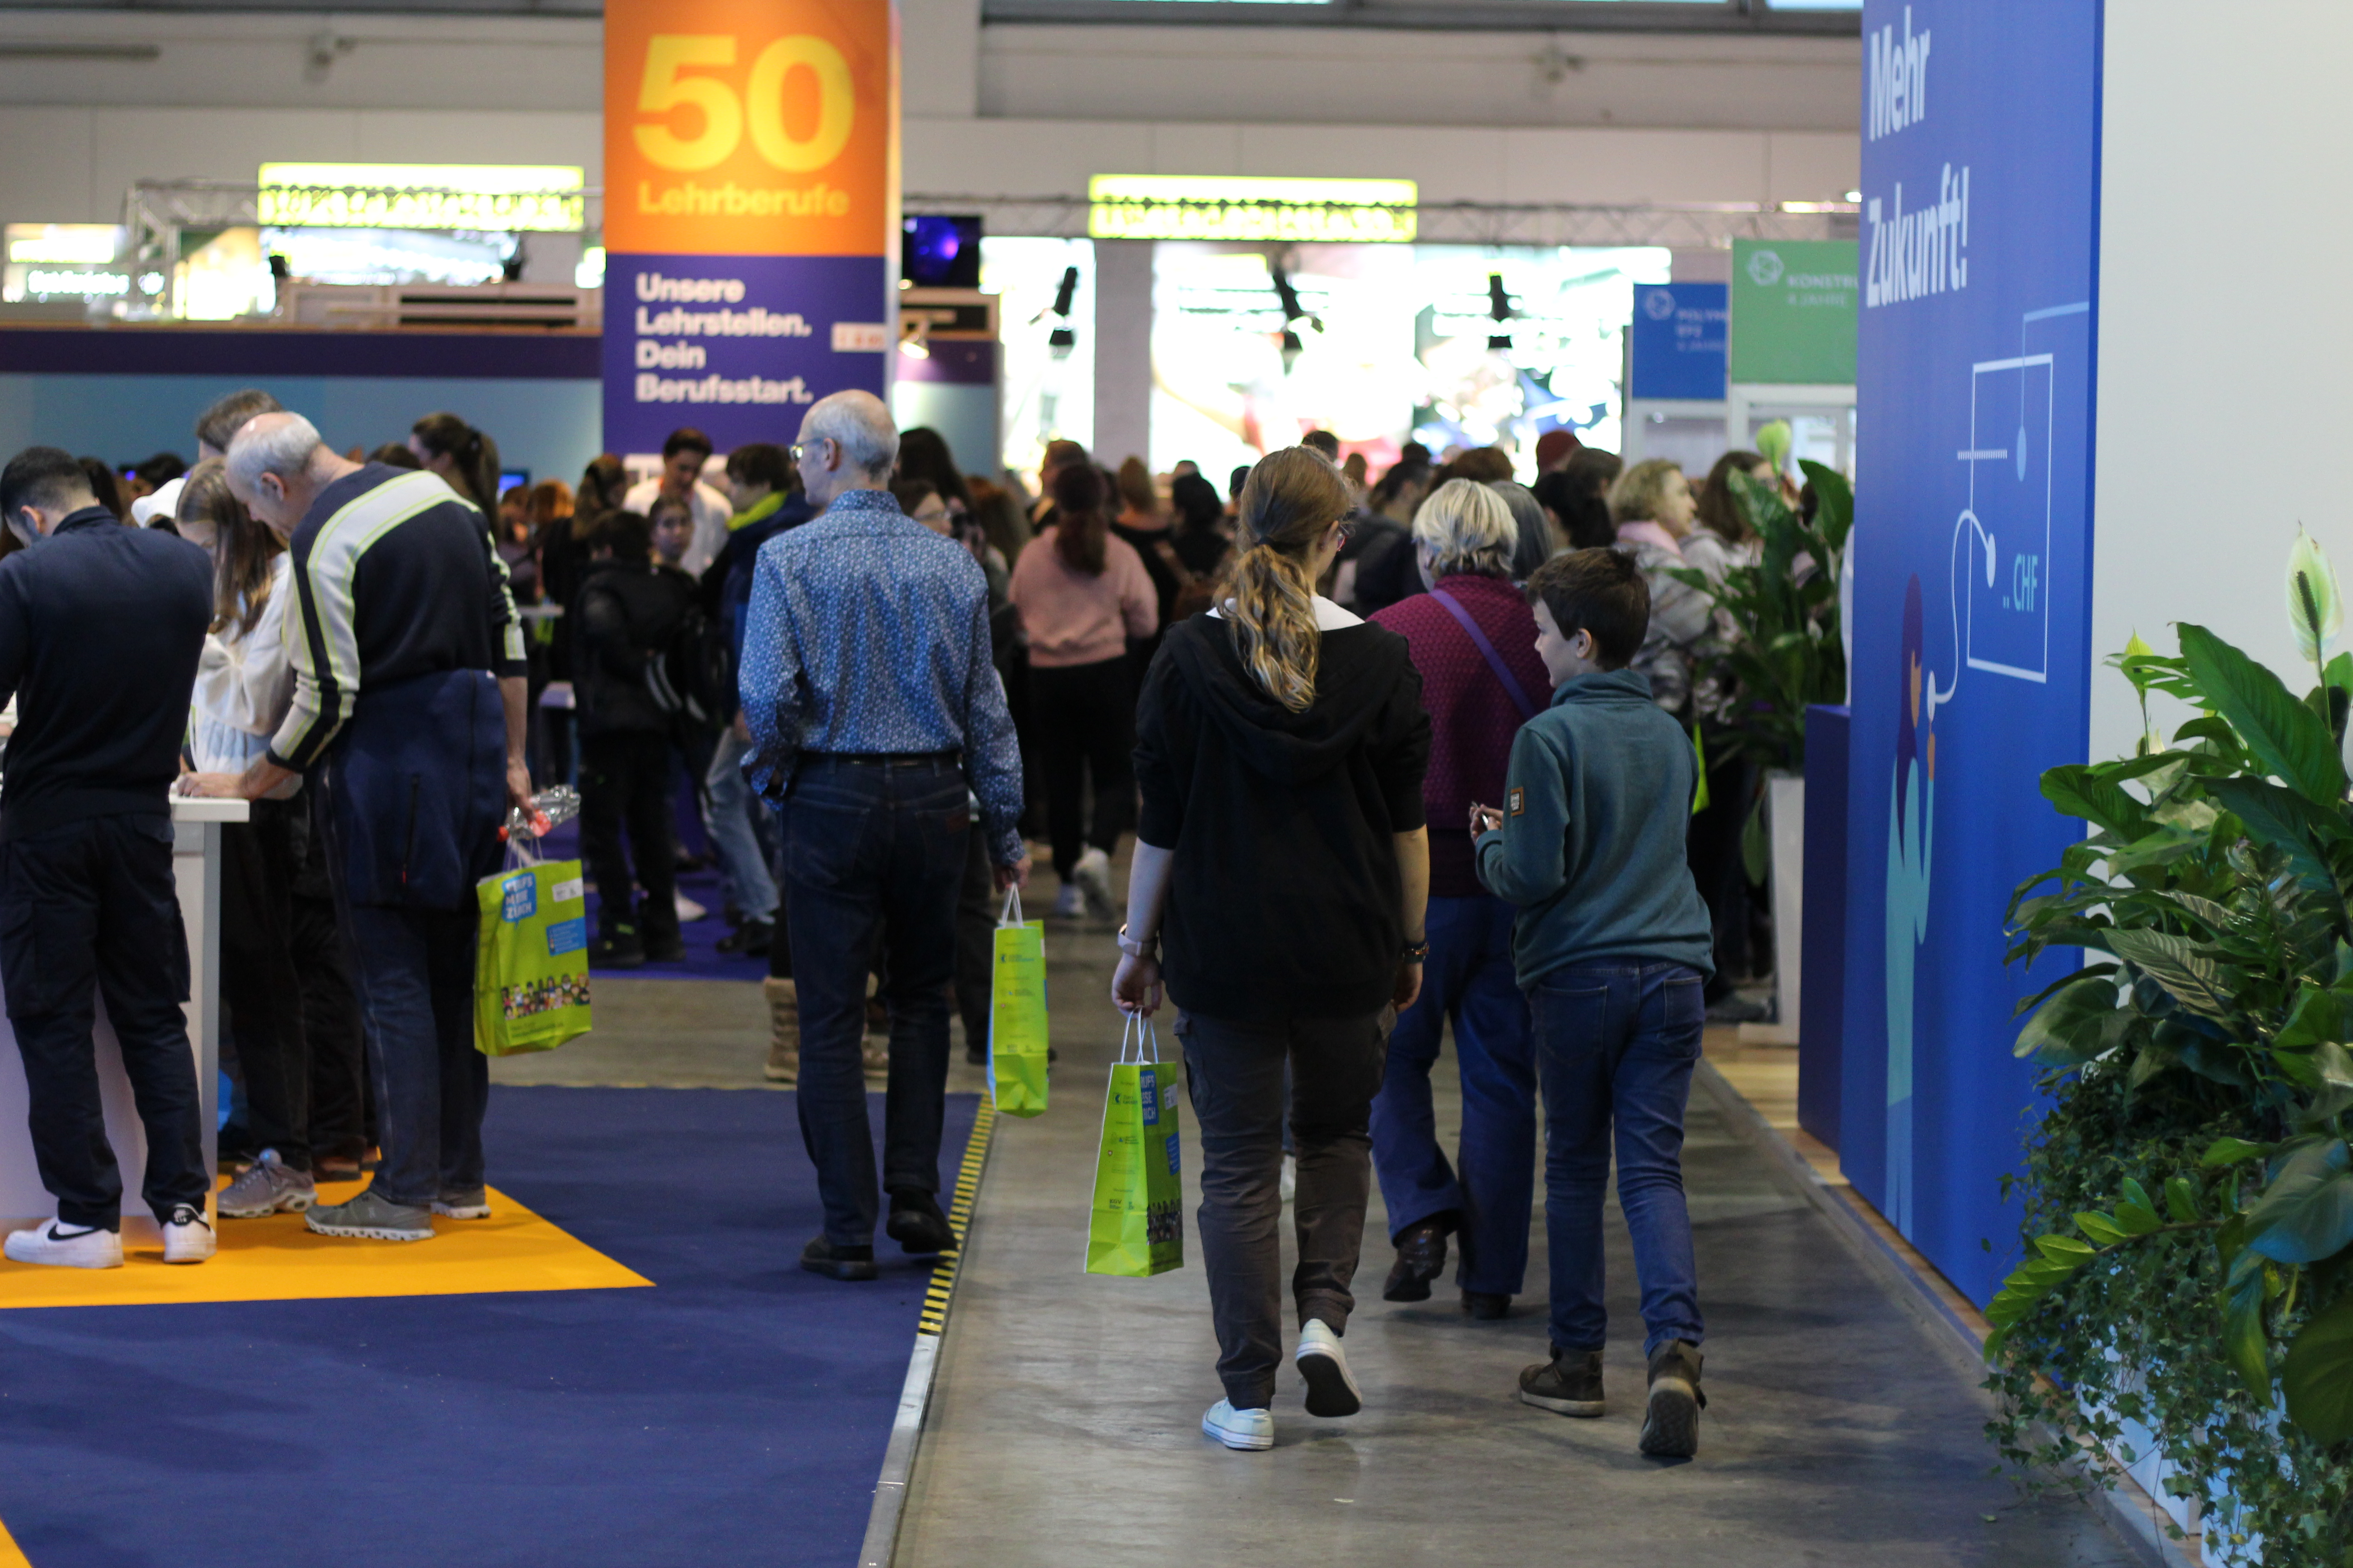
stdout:
POLYGON ((205 1206, 205 1100, 188 1048, 188 933, 169 816, 92 816, 0 844, 0 983, 24 1053, 33 1159, 66 1225, 122 1225, 92 1025, 122 1046, 146 1128, 141 1197, 158 1215, 205 1206))

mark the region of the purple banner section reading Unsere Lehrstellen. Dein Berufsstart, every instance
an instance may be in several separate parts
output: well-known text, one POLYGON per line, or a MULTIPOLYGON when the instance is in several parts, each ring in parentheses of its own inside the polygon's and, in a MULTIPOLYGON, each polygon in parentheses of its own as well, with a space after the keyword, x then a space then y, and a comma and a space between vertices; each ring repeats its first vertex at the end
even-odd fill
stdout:
POLYGON ((720 451, 791 444, 831 393, 885 395, 894 322, 882 256, 607 256, 605 449, 680 428, 720 451))

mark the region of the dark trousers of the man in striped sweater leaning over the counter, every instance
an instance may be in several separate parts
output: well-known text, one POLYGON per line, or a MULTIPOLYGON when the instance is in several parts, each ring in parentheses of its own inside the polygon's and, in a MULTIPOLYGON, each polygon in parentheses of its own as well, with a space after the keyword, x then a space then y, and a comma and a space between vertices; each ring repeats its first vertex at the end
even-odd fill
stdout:
POLYGON ((473 910, 346 905, 384 1164, 374 1192, 426 1208, 482 1185, 489 1058, 473 1048, 473 910))

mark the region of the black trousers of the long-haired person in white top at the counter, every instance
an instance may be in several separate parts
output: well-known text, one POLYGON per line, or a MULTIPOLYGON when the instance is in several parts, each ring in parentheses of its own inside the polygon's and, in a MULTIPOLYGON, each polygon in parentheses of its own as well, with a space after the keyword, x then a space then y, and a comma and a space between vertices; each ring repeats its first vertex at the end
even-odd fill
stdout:
POLYGON ((294 867, 304 806, 256 799, 221 827, 221 1001, 238 1037, 245 1126, 256 1150, 311 1168, 311 1046, 294 969, 294 867))

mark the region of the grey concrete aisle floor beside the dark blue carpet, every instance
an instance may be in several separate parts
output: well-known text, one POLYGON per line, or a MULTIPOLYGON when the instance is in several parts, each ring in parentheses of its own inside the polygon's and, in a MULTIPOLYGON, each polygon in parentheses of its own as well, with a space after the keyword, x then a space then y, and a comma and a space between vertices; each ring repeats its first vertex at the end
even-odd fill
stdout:
MULTIPOLYGON (((1047 954, 1061 1051, 1052 1107, 998 1124, 901 1568, 2139 1561, 2092 1509, 2024 1502, 1991 1474, 1988 1406, 1967 1371, 1704 1107, 1687 1145, 1711 1328, 1694 1462, 1635 1453, 1642 1328, 1614 1211, 1612 1408, 1565 1420, 1513 1399, 1520 1366, 1546 1354, 1541 1213, 1513 1316, 1473 1324, 1449 1288, 1417 1307, 1379 1300, 1393 1258, 1379 1190, 1348 1328, 1365 1410, 1313 1420, 1285 1373, 1273 1453, 1209 1443, 1198 1422, 1219 1396, 1217 1347, 1198 1251, 1148 1281, 1080 1269, 1120 1037, 1118 954, 1108 929, 1056 929, 1047 954)), ((1459 1114, 1449 1077, 1452 1056, 1440 1063, 1447 1128, 1459 1114)), ((1191 1126, 1186 1168, 1193 1241, 1191 1126)))

